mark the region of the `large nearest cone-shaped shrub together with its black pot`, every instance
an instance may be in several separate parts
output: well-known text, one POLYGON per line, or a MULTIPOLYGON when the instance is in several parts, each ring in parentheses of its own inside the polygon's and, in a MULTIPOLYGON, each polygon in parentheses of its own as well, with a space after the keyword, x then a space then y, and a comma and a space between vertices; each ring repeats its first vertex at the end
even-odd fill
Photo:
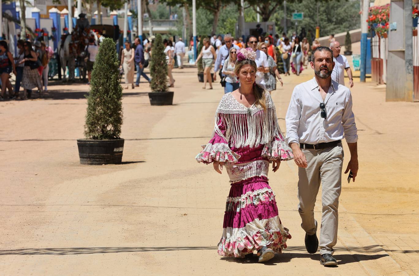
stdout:
POLYGON ((87 98, 85 139, 78 139, 80 164, 120 164, 124 139, 121 139, 122 87, 116 44, 103 39, 93 65, 87 98))

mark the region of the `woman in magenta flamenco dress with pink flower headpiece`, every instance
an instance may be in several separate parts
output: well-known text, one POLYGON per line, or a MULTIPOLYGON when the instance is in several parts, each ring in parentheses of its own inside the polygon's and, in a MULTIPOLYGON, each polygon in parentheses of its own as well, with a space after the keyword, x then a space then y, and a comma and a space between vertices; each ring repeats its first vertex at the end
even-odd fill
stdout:
POLYGON ((293 158, 279 129, 269 93, 255 83, 256 53, 241 49, 235 74, 240 88, 225 94, 215 113, 214 134, 195 159, 213 163, 230 177, 218 254, 243 258, 258 250, 259 262, 286 248, 291 238, 278 215, 275 194, 268 184, 269 163, 274 172, 281 160, 293 158))

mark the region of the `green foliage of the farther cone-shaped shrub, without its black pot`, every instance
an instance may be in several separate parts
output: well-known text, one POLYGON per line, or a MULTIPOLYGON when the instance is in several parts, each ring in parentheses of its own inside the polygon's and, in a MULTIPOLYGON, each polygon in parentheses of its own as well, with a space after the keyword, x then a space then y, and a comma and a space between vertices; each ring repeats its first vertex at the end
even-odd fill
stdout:
POLYGON ((156 34, 151 48, 153 57, 150 62, 151 91, 166 92, 167 86, 167 63, 164 53, 164 44, 160 34, 156 34))

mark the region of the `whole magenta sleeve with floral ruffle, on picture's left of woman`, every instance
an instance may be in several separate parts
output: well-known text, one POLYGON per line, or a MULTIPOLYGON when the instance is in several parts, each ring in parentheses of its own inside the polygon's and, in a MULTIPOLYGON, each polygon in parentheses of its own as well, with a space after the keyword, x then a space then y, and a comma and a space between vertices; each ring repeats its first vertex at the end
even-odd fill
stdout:
POLYGON ((228 146, 228 142, 224 137, 226 126, 220 116, 217 116, 217 123, 214 134, 206 145, 203 145, 203 150, 195 156, 198 162, 209 164, 213 161, 225 162, 225 165, 231 166, 235 164, 240 158, 228 146))

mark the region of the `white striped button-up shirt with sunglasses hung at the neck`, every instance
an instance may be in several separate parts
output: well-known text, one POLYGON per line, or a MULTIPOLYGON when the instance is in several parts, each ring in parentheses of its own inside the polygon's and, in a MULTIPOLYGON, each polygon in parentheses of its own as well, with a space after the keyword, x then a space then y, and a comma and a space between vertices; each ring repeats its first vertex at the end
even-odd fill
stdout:
POLYGON ((316 78, 295 86, 285 117, 288 143, 317 144, 342 138, 347 143, 358 141, 351 91, 331 81, 324 100, 326 119, 320 116, 322 102, 316 78))

